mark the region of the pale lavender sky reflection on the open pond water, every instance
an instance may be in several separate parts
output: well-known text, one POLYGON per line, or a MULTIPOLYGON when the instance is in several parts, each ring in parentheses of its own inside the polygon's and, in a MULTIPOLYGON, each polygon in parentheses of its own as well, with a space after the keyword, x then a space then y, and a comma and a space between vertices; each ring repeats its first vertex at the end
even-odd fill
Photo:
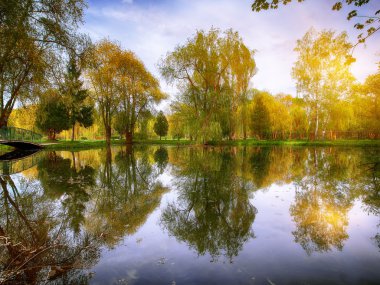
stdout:
MULTIPOLYGON (((160 176, 169 188, 174 179, 169 171, 160 176)), ((374 243, 368 242, 376 235, 379 220, 364 213, 358 200, 347 214, 349 239, 344 241, 344 249, 332 248, 308 255, 294 242, 292 235, 296 227, 289 208, 295 198, 294 185, 273 184, 259 190, 250 199, 258 211, 252 227, 255 237, 244 244, 239 256, 230 263, 225 257, 211 262, 212 257, 207 254, 198 256, 186 243, 162 231, 161 210, 168 202, 175 201, 177 194, 175 190, 166 193, 160 209, 150 215, 135 235, 126 237, 122 245, 103 251, 102 260, 94 268, 94 284, 123 280, 132 284, 169 284, 171 281, 177 284, 270 284, 274 280, 276 284, 293 284, 313 279, 317 284, 326 284, 334 283, 337 276, 340 276, 339 282, 355 284, 363 276, 379 278, 376 266, 380 264, 379 251, 374 243)))

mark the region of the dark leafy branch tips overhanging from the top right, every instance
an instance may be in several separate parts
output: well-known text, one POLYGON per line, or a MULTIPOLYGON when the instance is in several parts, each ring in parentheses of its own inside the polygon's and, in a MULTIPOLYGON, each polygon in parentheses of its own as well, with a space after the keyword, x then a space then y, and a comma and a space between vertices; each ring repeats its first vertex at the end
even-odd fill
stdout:
MULTIPOLYGON (((297 0, 297 2, 303 2, 305 0, 297 0)), ((338 1, 332 6, 332 10, 339 11, 344 5, 353 4, 355 7, 361 7, 367 5, 371 0, 343 0, 338 1)), ((277 9, 279 4, 286 5, 292 2, 292 0, 255 0, 252 4, 252 11, 259 12, 261 10, 277 9)), ((347 15, 347 20, 352 18, 365 19, 363 22, 356 23, 354 28, 361 31, 367 28, 366 33, 358 35, 358 43, 364 43, 365 40, 372 36, 375 32, 380 30, 380 10, 373 11, 373 15, 365 16, 359 15, 357 10, 351 10, 347 15)))

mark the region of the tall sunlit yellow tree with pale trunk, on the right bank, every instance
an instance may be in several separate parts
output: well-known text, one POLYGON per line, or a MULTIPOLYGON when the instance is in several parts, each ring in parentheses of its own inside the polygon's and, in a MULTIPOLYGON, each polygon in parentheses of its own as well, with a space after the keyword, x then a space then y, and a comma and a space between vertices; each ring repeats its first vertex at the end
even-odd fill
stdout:
POLYGON ((347 96, 352 84, 350 62, 347 62, 351 47, 346 33, 335 35, 333 31, 310 29, 297 41, 294 50, 298 59, 292 76, 297 82, 297 92, 306 101, 315 138, 321 123, 324 128, 329 120, 330 107, 347 96))

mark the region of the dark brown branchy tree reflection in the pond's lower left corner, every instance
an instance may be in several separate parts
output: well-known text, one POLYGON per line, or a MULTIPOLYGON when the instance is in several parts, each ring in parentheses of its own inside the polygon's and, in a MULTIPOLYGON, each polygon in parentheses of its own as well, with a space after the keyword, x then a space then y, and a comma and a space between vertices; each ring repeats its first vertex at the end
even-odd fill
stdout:
POLYGON ((10 176, 0 177, 0 184, 0 283, 87 283, 81 269, 98 259, 100 238, 86 233, 73 238, 66 211, 38 185, 24 180, 17 187, 10 176))

